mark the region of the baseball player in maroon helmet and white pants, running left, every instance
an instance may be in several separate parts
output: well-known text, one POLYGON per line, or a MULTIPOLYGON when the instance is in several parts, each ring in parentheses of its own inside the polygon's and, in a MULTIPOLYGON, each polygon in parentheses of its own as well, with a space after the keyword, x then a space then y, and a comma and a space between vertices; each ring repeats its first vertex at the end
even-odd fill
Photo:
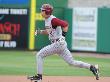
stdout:
POLYGON ((36 55, 37 58, 37 75, 29 77, 29 79, 36 82, 42 81, 43 74, 43 59, 47 56, 58 54, 71 66, 87 68, 93 72, 96 79, 99 79, 98 65, 91 65, 82 61, 74 60, 72 54, 67 48, 65 36, 68 31, 68 23, 64 20, 56 18, 52 15, 53 7, 50 4, 43 4, 41 7, 41 14, 45 18, 45 30, 36 30, 37 34, 47 34, 51 44, 42 48, 36 55))

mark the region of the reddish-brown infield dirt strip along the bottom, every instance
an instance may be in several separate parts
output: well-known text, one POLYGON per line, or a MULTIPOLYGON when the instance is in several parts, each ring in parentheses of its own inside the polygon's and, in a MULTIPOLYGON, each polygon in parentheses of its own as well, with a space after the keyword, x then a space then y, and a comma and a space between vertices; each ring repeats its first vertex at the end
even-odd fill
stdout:
MULTIPOLYGON (((0 82, 31 82, 26 76, 0 76, 0 82)), ((42 82, 110 82, 110 77, 44 76, 42 82)))

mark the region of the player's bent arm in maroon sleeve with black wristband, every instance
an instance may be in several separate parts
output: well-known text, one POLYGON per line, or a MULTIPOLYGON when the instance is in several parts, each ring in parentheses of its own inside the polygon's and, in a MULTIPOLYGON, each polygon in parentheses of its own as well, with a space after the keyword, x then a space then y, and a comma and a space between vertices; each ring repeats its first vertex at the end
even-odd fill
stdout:
POLYGON ((66 33, 68 31, 68 23, 66 21, 60 20, 58 18, 53 18, 52 21, 52 26, 53 27, 57 27, 57 26, 61 26, 62 27, 62 35, 65 37, 66 33))

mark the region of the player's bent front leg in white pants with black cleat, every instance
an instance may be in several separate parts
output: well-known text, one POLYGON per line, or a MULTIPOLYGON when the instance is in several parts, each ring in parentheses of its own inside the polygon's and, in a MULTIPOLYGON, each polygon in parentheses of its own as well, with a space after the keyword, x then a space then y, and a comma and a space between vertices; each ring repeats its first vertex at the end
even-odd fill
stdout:
POLYGON ((43 74, 43 59, 46 56, 53 55, 58 53, 58 45, 56 43, 53 43, 51 45, 48 45, 44 48, 42 48, 37 54, 37 75, 30 77, 32 80, 42 80, 42 74, 43 74))

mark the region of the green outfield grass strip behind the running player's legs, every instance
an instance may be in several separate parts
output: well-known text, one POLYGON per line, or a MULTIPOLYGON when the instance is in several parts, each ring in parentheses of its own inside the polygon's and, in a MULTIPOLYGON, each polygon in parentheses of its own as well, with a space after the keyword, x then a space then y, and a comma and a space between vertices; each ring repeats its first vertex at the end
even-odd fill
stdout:
MULTIPOLYGON (((94 57, 74 57, 76 60, 99 64, 101 76, 110 76, 110 59, 94 57)), ((36 74, 35 54, 29 51, 0 51, 0 75, 34 75, 36 74)), ((59 56, 44 59, 44 75, 93 76, 88 69, 71 67, 59 56)))

